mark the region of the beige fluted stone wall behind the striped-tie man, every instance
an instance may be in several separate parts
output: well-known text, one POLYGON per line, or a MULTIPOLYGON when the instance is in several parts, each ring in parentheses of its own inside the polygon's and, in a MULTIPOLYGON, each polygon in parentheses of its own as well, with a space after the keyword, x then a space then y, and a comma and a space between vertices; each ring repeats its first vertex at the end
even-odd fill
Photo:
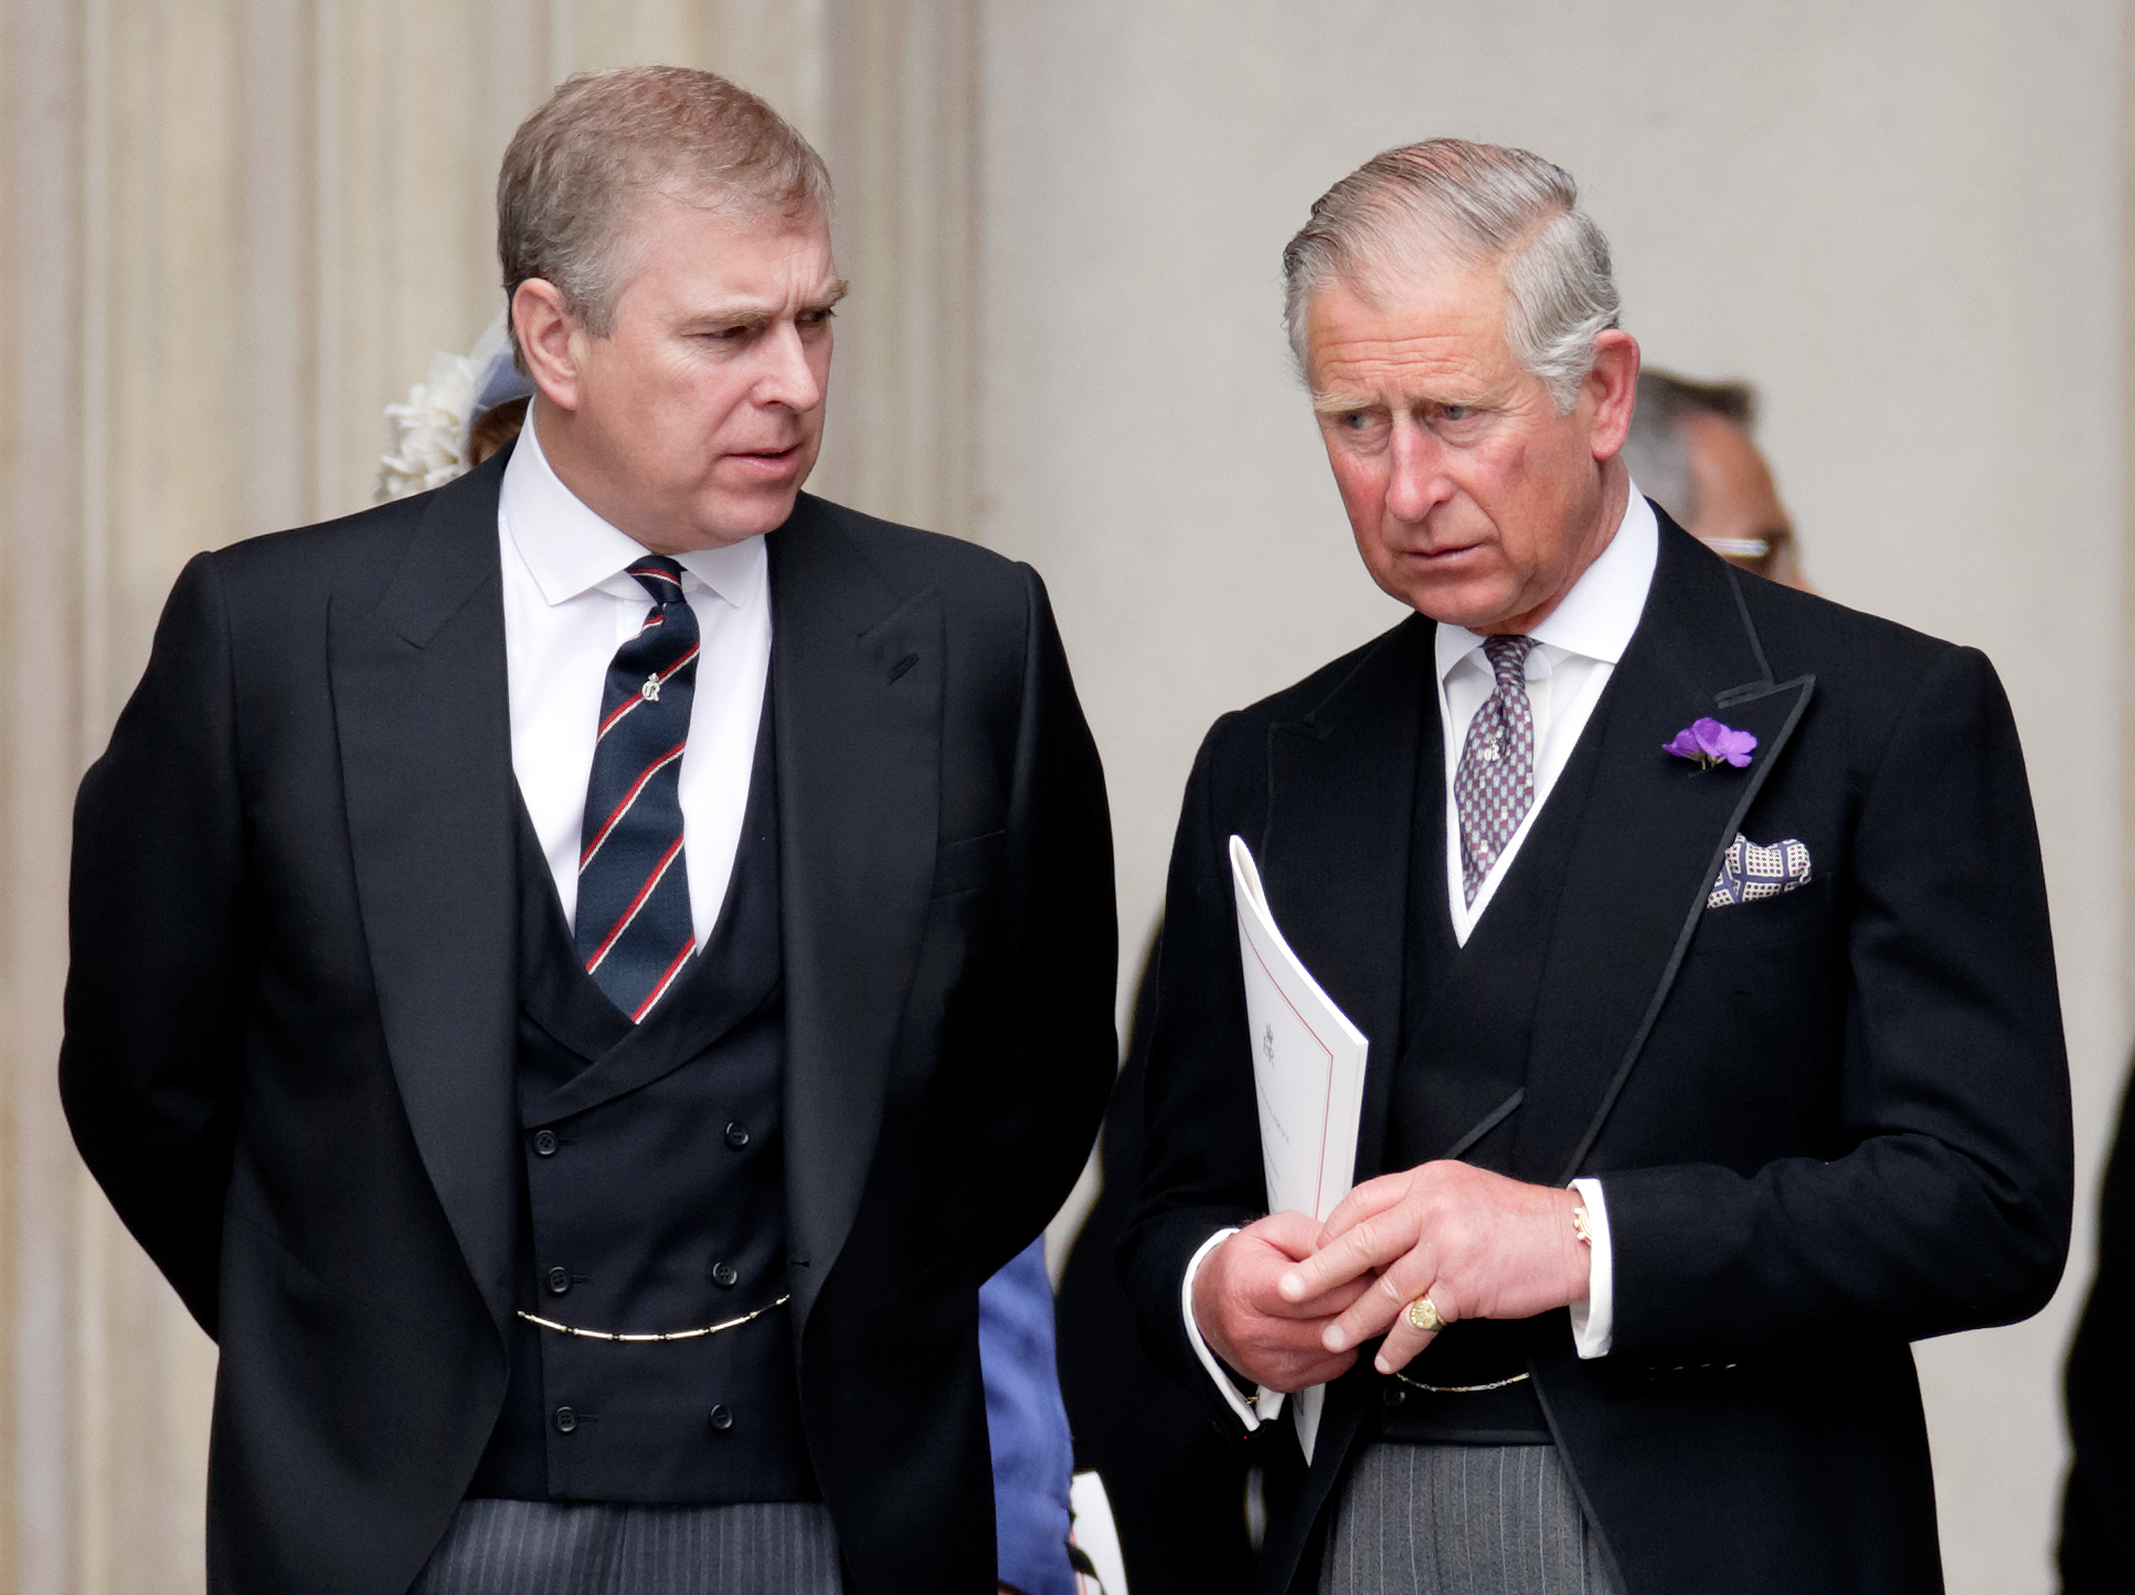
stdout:
POLYGON ((68 805, 196 549, 369 502, 382 408, 502 303, 497 158, 581 68, 766 94, 841 188, 818 485, 976 519, 965 0, 0 6, 0 1595, 201 1586, 213 1347, 53 1089, 68 805))

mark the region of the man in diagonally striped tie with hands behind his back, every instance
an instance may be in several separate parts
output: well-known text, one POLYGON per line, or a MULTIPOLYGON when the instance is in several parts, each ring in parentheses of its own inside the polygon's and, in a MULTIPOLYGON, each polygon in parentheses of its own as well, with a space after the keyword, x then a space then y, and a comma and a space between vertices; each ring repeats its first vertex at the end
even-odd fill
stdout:
POLYGON ((796 498, 826 203, 722 79, 566 83, 500 184, 527 433, 194 559, 83 781, 62 1085, 220 1343, 213 1591, 995 1589, 976 1290, 1112 1078, 1104 784, 1031 570, 796 498), (587 792, 677 700, 739 758, 581 967, 587 792), (679 895, 596 984, 719 814, 705 952, 679 895))

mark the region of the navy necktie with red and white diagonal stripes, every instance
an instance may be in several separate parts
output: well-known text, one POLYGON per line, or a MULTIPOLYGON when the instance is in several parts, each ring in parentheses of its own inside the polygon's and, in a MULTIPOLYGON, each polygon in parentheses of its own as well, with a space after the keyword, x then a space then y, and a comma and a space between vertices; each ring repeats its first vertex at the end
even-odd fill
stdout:
POLYGON ((585 972, 636 1023, 696 952, 679 788, 698 634, 679 564, 645 555, 630 574, 653 609, 615 649, 600 696, 574 935, 585 972))

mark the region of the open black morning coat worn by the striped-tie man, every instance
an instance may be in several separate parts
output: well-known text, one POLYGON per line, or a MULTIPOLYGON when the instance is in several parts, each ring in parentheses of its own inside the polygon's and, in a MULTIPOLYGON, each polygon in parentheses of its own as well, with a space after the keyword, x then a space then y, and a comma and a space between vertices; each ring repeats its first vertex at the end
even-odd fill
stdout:
MULTIPOLYGON (((60 1083, 220 1343, 218 1595, 406 1591, 504 1399, 502 470, 194 559, 81 786, 60 1083)), ((1112 1080, 1104 779, 1029 568, 807 495, 769 551, 807 1446, 854 1589, 991 1593, 976 1292, 1112 1080)))

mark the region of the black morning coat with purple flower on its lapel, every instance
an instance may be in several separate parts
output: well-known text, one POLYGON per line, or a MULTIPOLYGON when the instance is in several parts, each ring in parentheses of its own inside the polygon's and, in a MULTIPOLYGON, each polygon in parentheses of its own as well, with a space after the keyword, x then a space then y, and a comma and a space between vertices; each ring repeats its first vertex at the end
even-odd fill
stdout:
MULTIPOLYGON (((1601 1176, 1614 1349, 1578 1360, 1556 1313, 1529 1367, 1625 1595, 1941 1589, 1907 1343, 2037 1311, 2071 1204, 2037 828, 1992 666, 1736 572, 1663 517, 1646 611, 1584 732, 1591 781, 1550 796, 1580 814, 1524 1078, 1428 1083, 1396 1080, 1388 1042, 1411 828, 1445 822, 1443 779, 1416 775, 1420 745, 1439 769, 1433 636, 1411 617, 1202 745, 1121 1247, 1144 1339, 1238 1428, 1179 1313, 1202 1238, 1266 1204, 1236 833, 1298 957, 1373 1040, 1358 1179, 1386 1172, 1396 1089, 1467 1093, 1475 1125, 1509 1104, 1520 1179, 1601 1176), (1699 715, 1755 732, 1749 769, 1661 752, 1699 715), (1810 884, 1708 910, 1736 833, 1804 841, 1810 884)), ((1379 1384, 1366 1347, 1330 1390, 1262 1591, 1313 1586, 1379 1384)))

